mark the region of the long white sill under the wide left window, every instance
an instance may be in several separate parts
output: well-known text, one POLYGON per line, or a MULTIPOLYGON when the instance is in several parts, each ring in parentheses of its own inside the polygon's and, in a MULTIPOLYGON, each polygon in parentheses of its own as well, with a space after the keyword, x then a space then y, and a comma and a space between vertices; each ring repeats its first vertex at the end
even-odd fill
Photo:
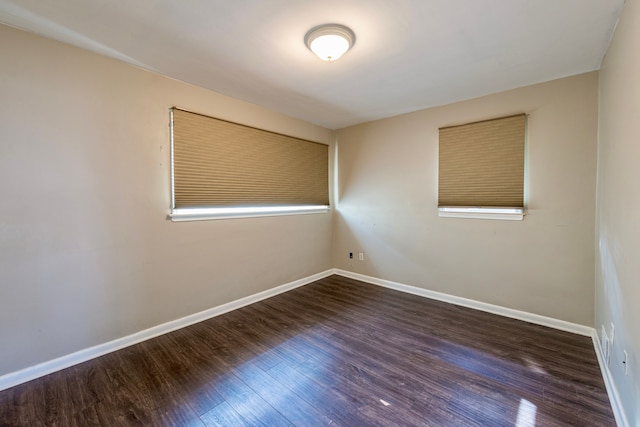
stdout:
POLYGON ((167 216, 173 222, 206 221, 212 219, 256 218, 263 216, 302 215, 329 212, 329 206, 270 206, 247 208, 186 208, 173 209, 167 216))

